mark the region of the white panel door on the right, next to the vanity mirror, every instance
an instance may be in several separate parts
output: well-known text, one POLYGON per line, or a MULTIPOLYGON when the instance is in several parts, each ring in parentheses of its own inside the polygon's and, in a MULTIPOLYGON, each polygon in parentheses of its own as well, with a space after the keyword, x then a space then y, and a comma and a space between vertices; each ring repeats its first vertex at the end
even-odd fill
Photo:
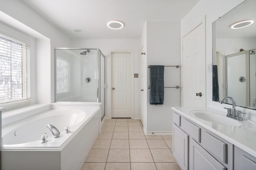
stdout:
POLYGON ((205 26, 201 23, 183 37, 182 106, 206 106, 205 26))

